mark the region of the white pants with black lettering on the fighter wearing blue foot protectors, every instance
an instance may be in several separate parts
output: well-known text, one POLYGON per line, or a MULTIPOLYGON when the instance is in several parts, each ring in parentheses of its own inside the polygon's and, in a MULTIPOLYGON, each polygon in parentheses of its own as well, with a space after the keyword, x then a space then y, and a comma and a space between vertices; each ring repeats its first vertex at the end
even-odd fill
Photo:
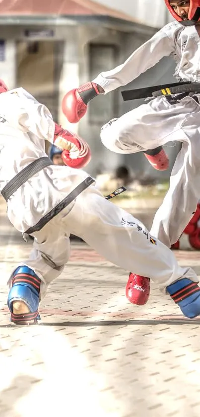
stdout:
POLYGON ((21 264, 41 278, 41 298, 68 261, 70 233, 128 272, 150 277, 161 290, 183 277, 198 282, 195 272, 180 267, 174 253, 150 236, 142 223, 91 185, 76 198, 69 213, 64 209, 33 234, 30 257, 21 264))

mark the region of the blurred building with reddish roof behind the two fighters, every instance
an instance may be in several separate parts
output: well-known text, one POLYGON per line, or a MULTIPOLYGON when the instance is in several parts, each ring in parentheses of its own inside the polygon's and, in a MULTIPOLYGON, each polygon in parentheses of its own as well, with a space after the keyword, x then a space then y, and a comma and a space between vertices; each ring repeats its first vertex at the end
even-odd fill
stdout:
MULTIPOLYGON (((164 0, 1 0, 0 78, 10 89, 23 86, 49 107, 56 122, 87 140, 93 154, 90 174, 125 165, 138 177, 168 179, 170 170, 155 171, 141 153, 118 155, 100 142, 105 122, 143 100, 125 103, 120 89, 101 95, 76 125, 67 122, 61 101, 69 89, 124 62, 169 21, 164 0)), ((164 58, 125 88, 173 82, 174 68, 172 59, 164 58)), ((165 149, 172 167, 179 144, 165 149)))

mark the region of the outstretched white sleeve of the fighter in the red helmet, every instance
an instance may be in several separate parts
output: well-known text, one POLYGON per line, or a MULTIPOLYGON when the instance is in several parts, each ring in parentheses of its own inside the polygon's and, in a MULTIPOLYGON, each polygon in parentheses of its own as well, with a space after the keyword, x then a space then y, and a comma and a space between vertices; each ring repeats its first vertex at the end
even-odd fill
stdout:
POLYGON ((136 49, 124 64, 111 71, 102 72, 92 82, 103 87, 107 93, 130 83, 157 64, 161 58, 173 54, 173 36, 170 36, 171 31, 167 29, 166 33, 165 28, 159 30, 151 39, 136 49))

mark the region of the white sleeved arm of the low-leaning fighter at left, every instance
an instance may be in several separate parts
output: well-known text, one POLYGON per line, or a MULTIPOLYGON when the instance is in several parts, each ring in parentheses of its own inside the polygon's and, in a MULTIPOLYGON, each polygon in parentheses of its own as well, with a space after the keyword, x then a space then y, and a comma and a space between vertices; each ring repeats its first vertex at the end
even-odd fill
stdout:
POLYGON ((55 123, 48 108, 26 96, 5 92, 0 94, 0 116, 10 126, 24 133, 31 132, 53 143, 55 123))

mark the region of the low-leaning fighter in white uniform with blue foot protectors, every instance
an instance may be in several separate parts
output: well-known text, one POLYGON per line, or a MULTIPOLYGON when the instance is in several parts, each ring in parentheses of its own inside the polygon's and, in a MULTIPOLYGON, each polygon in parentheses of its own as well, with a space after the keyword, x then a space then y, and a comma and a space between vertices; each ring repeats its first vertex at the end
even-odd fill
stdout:
POLYGON ((11 320, 22 324, 37 321, 40 299, 67 263, 70 234, 114 264, 149 275, 186 316, 200 314, 195 272, 180 267, 173 252, 154 239, 141 222, 106 200, 85 171, 54 165, 31 171, 38 162, 50 161, 45 139, 64 149, 67 165, 84 167, 90 160, 88 145, 54 123, 47 107, 23 88, 7 91, 0 82, 0 190, 10 222, 34 237, 29 258, 9 279, 11 320), (184 305, 177 301, 177 282, 183 287, 184 305), (195 303, 188 297, 190 286, 196 294, 195 303))

